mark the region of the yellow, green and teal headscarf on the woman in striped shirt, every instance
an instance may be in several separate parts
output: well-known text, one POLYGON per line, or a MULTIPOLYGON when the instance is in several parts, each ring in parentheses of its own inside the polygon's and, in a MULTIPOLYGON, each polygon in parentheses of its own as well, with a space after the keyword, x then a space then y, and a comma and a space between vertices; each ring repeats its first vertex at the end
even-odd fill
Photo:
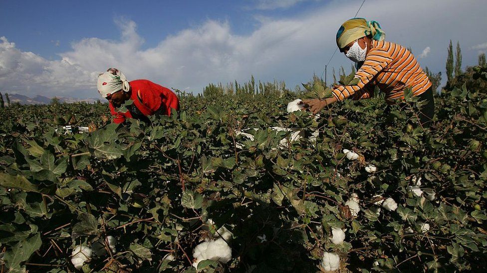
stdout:
POLYGON ((349 43, 362 37, 372 35, 372 39, 383 41, 386 33, 382 31, 376 21, 367 21, 364 18, 352 18, 345 21, 336 33, 336 45, 342 49, 349 43))

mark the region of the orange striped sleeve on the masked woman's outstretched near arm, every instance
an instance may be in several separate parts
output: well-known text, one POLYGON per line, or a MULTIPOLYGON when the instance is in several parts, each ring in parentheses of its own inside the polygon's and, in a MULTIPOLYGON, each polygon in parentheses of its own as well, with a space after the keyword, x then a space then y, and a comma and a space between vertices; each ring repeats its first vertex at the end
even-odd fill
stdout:
MULTIPOLYGON (((355 73, 355 78, 359 79, 356 86, 340 86, 333 90, 333 95, 338 100, 343 100, 356 92, 363 89, 379 72, 386 68, 392 62, 388 50, 377 49, 370 51, 365 59, 364 64, 355 73)), ((359 95, 362 97, 367 91, 359 95)), ((370 93, 369 93, 370 95, 370 93)), ((366 98, 366 97, 363 97, 366 98)))

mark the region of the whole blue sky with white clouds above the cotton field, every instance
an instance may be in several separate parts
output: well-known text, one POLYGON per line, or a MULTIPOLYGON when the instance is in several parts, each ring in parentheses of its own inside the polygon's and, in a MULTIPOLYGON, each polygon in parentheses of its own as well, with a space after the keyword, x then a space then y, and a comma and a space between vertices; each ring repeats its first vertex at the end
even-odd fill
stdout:
MULTIPOLYGON (((129 80, 202 91, 208 83, 307 82, 335 50, 334 35, 362 0, 0 0, 0 91, 94 97, 108 67, 129 80)), ((487 50, 482 0, 366 0, 358 16, 386 40, 412 48, 422 67, 444 72, 450 39, 463 66, 487 50)), ((337 53, 331 67, 349 68, 337 53)), ((444 74, 444 73, 443 73, 444 74)))

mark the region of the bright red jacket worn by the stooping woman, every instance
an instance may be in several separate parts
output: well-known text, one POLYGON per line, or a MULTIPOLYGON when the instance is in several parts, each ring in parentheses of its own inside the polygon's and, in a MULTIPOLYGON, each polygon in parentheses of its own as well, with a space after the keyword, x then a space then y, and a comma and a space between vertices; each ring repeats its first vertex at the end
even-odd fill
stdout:
MULTIPOLYGON (((130 99, 134 105, 145 115, 153 115, 156 111, 165 115, 171 115, 171 108, 179 110, 178 96, 168 88, 154 84, 148 80, 135 80, 129 82, 132 91, 130 99)), ((109 102, 110 112, 115 115, 113 122, 122 123, 126 118, 133 118, 130 111, 117 112, 109 102)))

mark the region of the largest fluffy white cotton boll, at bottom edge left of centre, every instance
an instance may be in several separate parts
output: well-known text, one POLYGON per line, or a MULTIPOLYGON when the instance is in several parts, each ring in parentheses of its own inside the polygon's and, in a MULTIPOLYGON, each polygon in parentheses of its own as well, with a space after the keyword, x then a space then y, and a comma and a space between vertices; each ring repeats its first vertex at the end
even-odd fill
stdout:
POLYGON ((226 264, 232 260, 232 249, 222 238, 210 240, 197 245, 193 251, 193 257, 196 259, 193 267, 197 269, 198 264, 205 260, 219 261, 226 264))

